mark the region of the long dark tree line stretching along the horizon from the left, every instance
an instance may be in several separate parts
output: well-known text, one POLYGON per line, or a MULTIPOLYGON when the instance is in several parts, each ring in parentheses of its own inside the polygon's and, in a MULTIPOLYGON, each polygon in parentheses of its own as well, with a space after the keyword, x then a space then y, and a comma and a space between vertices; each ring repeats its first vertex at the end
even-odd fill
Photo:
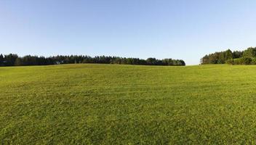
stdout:
POLYGON ((54 57, 38 57, 27 55, 19 57, 17 54, 0 54, 0 66, 27 66, 27 65, 60 65, 77 63, 120 64, 120 65, 172 65, 184 66, 182 59, 139 59, 126 57, 89 57, 87 55, 57 55, 54 57))

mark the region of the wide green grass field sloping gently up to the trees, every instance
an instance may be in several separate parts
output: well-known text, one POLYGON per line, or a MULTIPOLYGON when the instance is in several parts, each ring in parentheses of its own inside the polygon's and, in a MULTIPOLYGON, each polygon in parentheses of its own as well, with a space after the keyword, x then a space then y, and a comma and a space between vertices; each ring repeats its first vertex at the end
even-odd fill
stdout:
POLYGON ((255 72, 0 67, 0 144, 256 144, 255 72))

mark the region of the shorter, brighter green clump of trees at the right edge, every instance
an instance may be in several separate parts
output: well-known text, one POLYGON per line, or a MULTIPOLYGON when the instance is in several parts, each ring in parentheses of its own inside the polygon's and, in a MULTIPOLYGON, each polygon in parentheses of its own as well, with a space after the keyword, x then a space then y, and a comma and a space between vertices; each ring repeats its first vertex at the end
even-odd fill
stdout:
POLYGON ((244 51, 226 51, 207 54, 201 58, 201 65, 205 64, 256 65, 256 47, 249 47, 244 51))

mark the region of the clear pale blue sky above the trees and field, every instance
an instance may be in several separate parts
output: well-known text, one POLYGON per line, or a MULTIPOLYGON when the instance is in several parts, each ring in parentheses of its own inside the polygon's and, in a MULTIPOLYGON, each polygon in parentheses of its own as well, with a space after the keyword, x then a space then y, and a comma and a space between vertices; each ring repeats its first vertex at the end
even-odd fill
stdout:
POLYGON ((184 59, 256 46, 254 0, 1 0, 0 53, 184 59))

